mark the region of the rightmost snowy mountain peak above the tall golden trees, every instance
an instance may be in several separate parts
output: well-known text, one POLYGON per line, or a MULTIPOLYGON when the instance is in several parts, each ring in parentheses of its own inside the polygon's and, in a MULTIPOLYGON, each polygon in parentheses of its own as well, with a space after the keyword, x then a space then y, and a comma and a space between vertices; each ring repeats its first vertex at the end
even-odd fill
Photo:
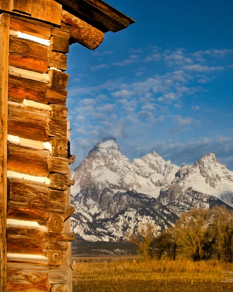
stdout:
POLYGON ((211 208, 223 202, 233 206, 233 171, 214 153, 205 154, 192 166, 182 164, 174 183, 161 189, 158 200, 178 215, 198 206, 211 208))

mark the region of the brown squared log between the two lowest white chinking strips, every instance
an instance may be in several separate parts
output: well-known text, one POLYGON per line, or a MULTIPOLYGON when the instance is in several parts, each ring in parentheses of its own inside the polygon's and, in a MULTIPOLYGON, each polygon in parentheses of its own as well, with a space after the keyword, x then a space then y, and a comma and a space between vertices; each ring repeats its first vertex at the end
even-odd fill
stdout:
POLYGON ((8 224, 7 252, 13 254, 42 255, 45 231, 32 226, 8 224))

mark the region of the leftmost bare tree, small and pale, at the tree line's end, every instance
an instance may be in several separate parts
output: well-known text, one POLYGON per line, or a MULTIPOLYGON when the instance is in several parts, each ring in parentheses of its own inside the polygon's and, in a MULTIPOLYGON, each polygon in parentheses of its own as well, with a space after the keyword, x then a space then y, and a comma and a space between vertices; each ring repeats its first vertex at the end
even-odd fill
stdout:
POLYGON ((135 233, 130 232, 126 234, 125 241, 138 246, 139 252, 145 257, 153 258, 153 244, 155 241, 156 227, 154 224, 148 222, 141 224, 135 233))

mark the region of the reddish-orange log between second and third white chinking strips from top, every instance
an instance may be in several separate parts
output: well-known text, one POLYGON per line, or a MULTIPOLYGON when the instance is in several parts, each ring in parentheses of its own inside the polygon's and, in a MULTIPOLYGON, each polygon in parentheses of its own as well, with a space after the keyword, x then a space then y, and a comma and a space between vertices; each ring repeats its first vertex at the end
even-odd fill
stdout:
POLYGON ((44 83, 9 76, 8 100, 21 103, 27 99, 47 104, 46 89, 44 83))

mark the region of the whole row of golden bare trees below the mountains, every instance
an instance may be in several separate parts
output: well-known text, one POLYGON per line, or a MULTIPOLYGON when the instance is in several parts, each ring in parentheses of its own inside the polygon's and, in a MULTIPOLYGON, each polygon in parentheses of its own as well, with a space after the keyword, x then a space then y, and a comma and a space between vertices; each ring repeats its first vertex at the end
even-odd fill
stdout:
POLYGON ((137 245, 146 258, 175 260, 181 254, 194 261, 215 256, 233 262, 233 211, 225 205, 184 212, 173 227, 156 234, 156 226, 147 223, 126 234, 125 241, 137 245))

